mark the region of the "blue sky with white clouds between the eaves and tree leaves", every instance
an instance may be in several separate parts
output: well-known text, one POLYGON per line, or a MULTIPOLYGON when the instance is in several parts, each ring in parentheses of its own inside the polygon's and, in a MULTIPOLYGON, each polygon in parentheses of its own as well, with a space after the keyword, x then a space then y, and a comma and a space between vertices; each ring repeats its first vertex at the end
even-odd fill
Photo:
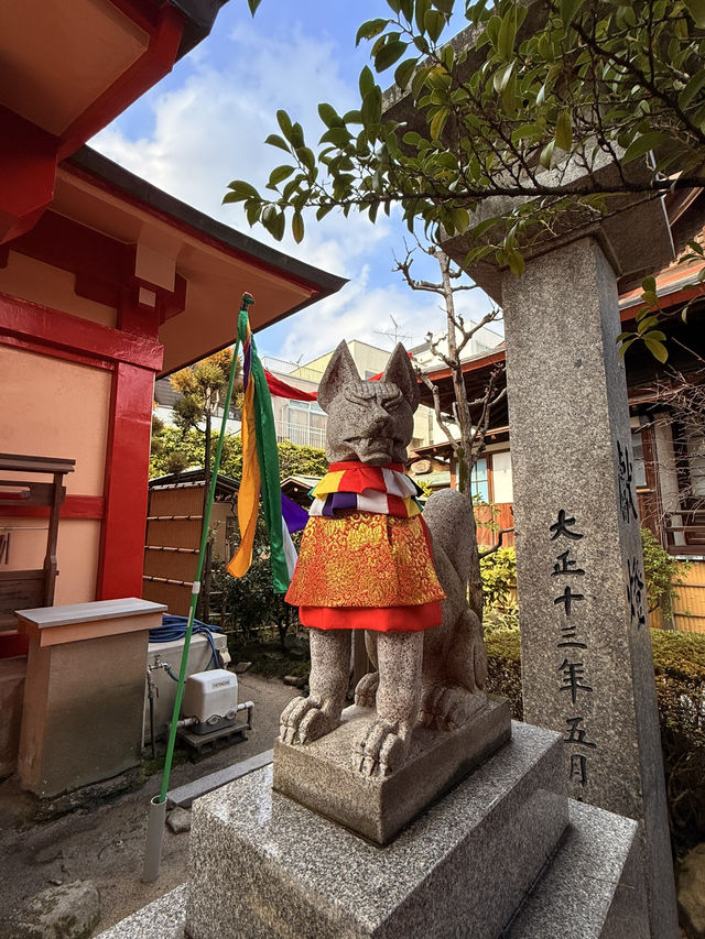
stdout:
MULTIPOLYGON (((340 113, 357 103, 369 43, 356 48, 355 35, 361 22, 388 10, 384 0, 262 0, 252 18, 246 0, 230 0, 212 35, 91 145, 167 193, 250 232, 239 207, 221 205, 227 184, 241 178, 263 187, 273 166, 285 161, 263 142, 278 130, 279 108, 300 120, 308 143, 316 144, 323 132, 318 102, 329 101, 340 113)), ((393 68, 381 76, 382 87, 392 76, 393 68)), ((276 243, 260 227, 251 234, 276 243)), ((337 212, 322 222, 307 219, 301 244, 288 233, 280 249, 350 283, 258 334, 260 352, 307 361, 344 338, 391 348, 391 338, 382 335, 393 329, 390 315, 409 346, 430 329, 441 330, 437 298, 413 293, 391 273, 393 253, 403 253, 405 234, 394 217, 372 226, 337 212)), ((435 280, 432 263, 420 259, 414 271, 435 280)), ((468 319, 488 308, 478 291, 460 297, 468 319)))

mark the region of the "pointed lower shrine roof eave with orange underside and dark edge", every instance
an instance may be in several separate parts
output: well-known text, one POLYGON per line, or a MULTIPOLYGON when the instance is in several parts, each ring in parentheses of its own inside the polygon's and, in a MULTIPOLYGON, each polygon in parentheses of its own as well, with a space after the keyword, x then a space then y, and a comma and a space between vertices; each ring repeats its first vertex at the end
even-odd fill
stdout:
POLYGON ((245 291, 253 332, 336 293, 346 279, 216 221, 87 146, 59 167, 52 210, 126 244, 144 242, 186 282, 185 308, 163 321, 166 375, 229 346, 245 291))

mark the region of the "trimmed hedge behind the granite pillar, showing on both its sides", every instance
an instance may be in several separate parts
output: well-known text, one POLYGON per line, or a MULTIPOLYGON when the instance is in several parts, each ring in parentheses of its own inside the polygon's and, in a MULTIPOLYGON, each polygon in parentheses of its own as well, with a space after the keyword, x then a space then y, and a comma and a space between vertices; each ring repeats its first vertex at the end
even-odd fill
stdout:
MULTIPOLYGON (((705 840, 705 635, 651 630, 671 838, 683 855, 705 840)), ((518 629, 485 635, 487 689, 522 720, 518 629)))

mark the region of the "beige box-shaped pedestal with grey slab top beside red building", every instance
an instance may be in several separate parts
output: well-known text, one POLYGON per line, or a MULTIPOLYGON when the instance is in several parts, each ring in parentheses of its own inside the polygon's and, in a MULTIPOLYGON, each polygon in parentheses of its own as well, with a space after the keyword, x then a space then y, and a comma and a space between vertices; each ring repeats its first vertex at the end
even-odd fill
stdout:
POLYGON ((149 630, 166 607, 104 600, 18 612, 30 636, 18 772, 57 796, 137 766, 149 630))

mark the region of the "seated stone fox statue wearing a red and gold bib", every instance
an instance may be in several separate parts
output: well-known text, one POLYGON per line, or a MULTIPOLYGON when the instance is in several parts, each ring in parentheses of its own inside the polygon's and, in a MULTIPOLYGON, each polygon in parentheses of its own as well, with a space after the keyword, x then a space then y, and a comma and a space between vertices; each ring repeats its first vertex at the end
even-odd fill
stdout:
POLYGON ((345 342, 318 389, 328 415, 329 472, 286 594, 311 633, 311 692, 281 716, 281 739, 304 744, 340 723, 351 630, 366 630, 375 672, 355 691, 377 708, 352 754, 367 776, 404 762, 416 723, 463 725, 486 702, 481 625, 467 603, 471 505, 459 492, 432 495, 423 516, 403 473, 419 386, 403 346, 381 381, 361 381, 345 342))

